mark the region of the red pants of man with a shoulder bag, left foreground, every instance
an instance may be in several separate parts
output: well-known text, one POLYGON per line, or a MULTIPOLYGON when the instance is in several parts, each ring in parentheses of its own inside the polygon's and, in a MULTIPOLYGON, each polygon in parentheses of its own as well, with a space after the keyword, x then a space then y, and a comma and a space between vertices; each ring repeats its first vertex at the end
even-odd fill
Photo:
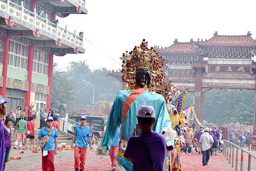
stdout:
POLYGON ((55 171, 54 169, 54 150, 48 151, 47 156, 43 156, 42 150, 42 168, 43 171, 55 171))

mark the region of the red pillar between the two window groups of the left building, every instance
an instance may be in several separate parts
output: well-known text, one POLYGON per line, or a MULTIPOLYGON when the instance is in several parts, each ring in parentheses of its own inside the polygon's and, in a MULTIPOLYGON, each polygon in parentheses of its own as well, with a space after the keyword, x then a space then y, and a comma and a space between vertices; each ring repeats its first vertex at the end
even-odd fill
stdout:
POLYGON ((29 88, 28 91, 25 93, 25 106, 29 108, 30 105, 30 94, 31 94, 31 81, 32 81, 32 67, 33 67, 33 57, 34 57, 34 46, 29 46, 29 53, 28 53, 28 63, 27 63, 27 71, 28 71, 28 82, 29 88))

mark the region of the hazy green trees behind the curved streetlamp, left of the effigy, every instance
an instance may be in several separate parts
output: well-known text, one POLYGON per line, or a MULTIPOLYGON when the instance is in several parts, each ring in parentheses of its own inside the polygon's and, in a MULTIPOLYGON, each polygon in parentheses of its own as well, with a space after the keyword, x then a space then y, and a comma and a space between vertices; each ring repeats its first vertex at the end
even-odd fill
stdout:
POLYGON ((95 88, 94 104, 100 100, 113 101, 116 93, 121 89, 121 83, 113 77, 108 77, 106 68, 91 71, 86 61, 71 62, 68 75, 75 82, 75 103, 81 106, 92 104, 93 87, 95 88), (85 80, 93 85, 93 87, 85 80))

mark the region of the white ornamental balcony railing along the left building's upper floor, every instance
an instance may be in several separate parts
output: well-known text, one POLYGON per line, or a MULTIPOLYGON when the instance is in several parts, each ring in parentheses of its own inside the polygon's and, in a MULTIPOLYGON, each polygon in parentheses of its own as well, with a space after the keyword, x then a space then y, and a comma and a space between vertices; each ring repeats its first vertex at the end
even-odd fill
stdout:
POLYGON ((83 38, 76 35, 76 30, 74 32, 70 32, 67 30, 67 26, 64 29, 55 23, 48 21, 48 16, 46 16, 46 18, 39 16, 36 13, 36 9, 34 9, 34 12, 25 9, 23 6, 23 1, 19 6, 10 0, 0 0, 0 11, 6 12, 6 14, 17 17, 26 23, 32 24, 38 29, 55 35, 57 37, 56 41, 58 41, 58 38, 61 38, 62 40, 64 39, 70 43, 73 43, 75 46, 83 46, 83 38))

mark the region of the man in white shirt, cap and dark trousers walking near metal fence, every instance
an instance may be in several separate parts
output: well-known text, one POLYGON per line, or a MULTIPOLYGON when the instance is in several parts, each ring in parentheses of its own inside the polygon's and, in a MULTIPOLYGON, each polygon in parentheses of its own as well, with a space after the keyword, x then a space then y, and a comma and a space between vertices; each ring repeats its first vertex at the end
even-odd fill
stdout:
POLYGON ((209 128, 206 127, 204 128, 204 134, 201 135, 200 137, 200 144, 202 146, 202 154, 203 154, 203 166, 208 164, 209 158, 210 158, 210 150, 211 150, 211 146, 213 145, 213 138, 212 136, 209 134, 209 128))

